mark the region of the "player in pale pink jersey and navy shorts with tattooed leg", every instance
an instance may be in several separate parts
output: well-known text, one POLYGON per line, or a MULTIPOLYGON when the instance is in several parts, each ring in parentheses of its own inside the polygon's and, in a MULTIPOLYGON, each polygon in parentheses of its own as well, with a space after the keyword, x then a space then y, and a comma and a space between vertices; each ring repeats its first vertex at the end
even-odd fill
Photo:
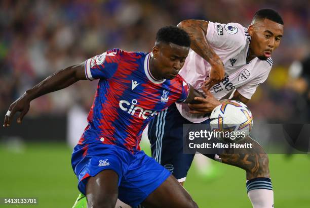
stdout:
MULTIPOLYGON (((196 89, 206 85, 207 98, 197 105, 176 104, 165 109, 150 122, 148 138, 152 157, 169 167, 180 183, 186 179, 193 154, 183 154, 182 124, 210 122, 207 116, 228 98, 247 103, 272 68, 271 55, 283 35, 283 20, 271 9, 261 9, 251 25, 220 24, 203 20, 185 20, 178 24, 191 38, 191 51, 180 75, 196 89), (225 78, 218 82, 225 74, 225 78), (214 99, 216 98, 216 99, 214 99)), ((247 192, 253 207, 272 207, 273 188, 268 158, 262 147, 251 138, 252 149, 241 153, 208 154, 207 157, 237 166, 246 171, 247 192)))

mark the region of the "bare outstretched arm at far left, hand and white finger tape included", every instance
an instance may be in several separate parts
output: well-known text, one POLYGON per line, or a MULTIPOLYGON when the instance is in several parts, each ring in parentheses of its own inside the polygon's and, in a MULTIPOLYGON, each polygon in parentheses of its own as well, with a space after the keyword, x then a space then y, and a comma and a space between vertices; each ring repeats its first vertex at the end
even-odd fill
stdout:
POLYGON ((84 63, 70 66, 55 72, 42 82, 35 85, 32 89, 26 90, 23 95, 21 95, 11 104, 9 111, 5 116, 3 126, 10 126, 11 120, 16 112, 21 112, 17 119, 17 123, 21 123, 23 117, 29 111, 31 100, 49 92, 57 91, 68 87, 79 80, 86 80, 84 63))

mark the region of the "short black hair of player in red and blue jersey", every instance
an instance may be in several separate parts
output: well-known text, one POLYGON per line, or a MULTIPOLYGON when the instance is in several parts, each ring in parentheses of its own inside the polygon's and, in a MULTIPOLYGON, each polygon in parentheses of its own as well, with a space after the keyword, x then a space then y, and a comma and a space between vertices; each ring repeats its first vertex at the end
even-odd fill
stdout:
POLYGON ((172 42, 180 46, 190 46, 190 39, 187 32, 176 26, 166 26, 159 29, 156 34, 156 42, 172 42))

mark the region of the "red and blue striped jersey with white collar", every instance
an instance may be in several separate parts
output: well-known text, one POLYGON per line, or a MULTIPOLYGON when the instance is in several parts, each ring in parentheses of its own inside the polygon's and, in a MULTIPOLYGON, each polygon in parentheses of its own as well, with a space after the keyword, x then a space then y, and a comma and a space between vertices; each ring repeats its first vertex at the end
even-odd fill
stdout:
POLYGON ((99 79, 88 125, 79 144, 103 143, 140 150, 142 131, 160 111, 183 102, 189 85, 177 75, 156 80, 149 71, 150 53, 118 48, 85 61, 87 79, 99 79))

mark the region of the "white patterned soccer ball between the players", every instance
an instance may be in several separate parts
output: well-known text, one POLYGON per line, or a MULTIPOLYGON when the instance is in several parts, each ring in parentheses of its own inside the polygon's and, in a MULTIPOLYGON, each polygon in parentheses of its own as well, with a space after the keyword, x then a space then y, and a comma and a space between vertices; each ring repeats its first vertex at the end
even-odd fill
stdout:
POLYGON ((253 126, 253 116, 248 107, 236 100, 227 100, 213 109, 210 127, 215 137, 224 142, 243 140, 253 126))

